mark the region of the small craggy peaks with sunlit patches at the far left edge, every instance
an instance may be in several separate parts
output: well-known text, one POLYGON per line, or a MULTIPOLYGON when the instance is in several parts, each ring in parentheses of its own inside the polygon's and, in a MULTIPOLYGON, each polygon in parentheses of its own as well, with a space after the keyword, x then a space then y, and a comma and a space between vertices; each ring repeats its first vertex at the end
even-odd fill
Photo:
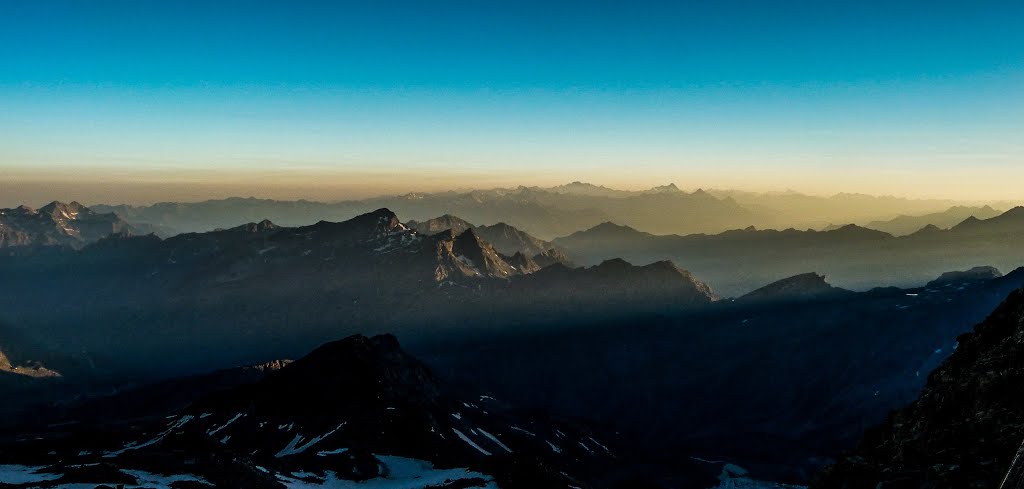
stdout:
POLYGON ((38 211, 25 206, 0 209, 0 248, 81 248, 111 234, 133 232, 118 216, 95 213, 76 202, 53 202, 38 211))

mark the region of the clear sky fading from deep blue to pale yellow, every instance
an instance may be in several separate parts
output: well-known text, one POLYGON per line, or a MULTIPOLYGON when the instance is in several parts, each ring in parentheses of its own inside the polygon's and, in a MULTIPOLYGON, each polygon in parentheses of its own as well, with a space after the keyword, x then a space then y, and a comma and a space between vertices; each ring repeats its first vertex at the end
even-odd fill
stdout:
POLYGON ((0 205, 1024 199, 1024 2, 0 2, 0 205))

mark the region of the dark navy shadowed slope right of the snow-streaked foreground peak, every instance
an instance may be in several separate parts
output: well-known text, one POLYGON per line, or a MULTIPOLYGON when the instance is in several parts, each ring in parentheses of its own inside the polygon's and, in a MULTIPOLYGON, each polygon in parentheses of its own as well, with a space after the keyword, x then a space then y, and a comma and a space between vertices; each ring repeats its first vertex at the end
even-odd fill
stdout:
POLYGON ((669 316, 547 323, 530 335, 480 331, 416 351, 453 382, 485 382, 517 404, 608 420, 667 487, 691 487, 668 476, 690 457, 806 483, 914 399, 956 336, 1020 286, 1024 269, 936 288, 722 301, 669 316))

